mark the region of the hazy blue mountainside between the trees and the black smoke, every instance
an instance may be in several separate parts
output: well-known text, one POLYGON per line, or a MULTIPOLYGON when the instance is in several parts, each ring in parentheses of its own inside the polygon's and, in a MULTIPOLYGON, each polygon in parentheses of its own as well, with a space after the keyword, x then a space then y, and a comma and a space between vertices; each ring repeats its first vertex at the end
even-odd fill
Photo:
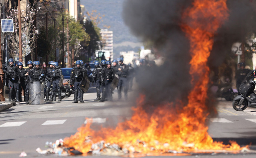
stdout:
MULTIPOLYGON (((126 49, 131 48, 138 49, 139 40, 137 37, 131 34, 129 28, 125 25, 122 19, 122 7, 125 0, 80 0, 81 5, 85 6, 86 11, 91 13, 96 10, 96 14, 100 14, 102 22, 99 23, 99 28, 104 28, 104 25, 110 26, 109 31, 113 31, 113 44, 114 53, 115 47, 118 47, 118 51, 122 50, 122 46, 126 49), (103 15, 105 15, 103 17, 103 15)), ((84 15, 86 15, 86 11, 84 15)))

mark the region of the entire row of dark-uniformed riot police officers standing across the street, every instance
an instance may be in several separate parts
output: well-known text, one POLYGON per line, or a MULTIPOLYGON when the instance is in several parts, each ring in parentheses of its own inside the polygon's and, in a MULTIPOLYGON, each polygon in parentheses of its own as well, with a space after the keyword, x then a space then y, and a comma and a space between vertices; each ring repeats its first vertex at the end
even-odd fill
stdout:
MULTIPOLYGON (((24 100, 26 104, 29 104, 29 86, 33 86, 34 82, 43 83, 45 80, 46 94, 45 102, 56 101, 56 93, 58 93, 58 102, 61 101, 61 80, 62 71, 58 62, 48 62, 49 68, 46 71, 40 68, 40 62, 32 62, 29 60, 27 62, 28 68, 23 68, 22 62, 17 62, 15 65, 14 59, 10 58, 8 60, 8 65, 3 68, 5 73, 6 85, 10 88, 9 90, 9 101, 12 102, 22 102, 21 100, 21 90, 24 90, 24 100), (29 84, 30 82, 30 84, 29 84), (50 94, 50 89, 52 91, 50 94), (50 95, 49 95, 50 94, 50 95)), ((113 79, 116 77, 119 79, 117 84, 118 99, 122 98, 122 88, 124 89, 125 99, 128 99, 128 70, 129 66, 123 63, 123 58, 118 58, 110 61, 102 60, 94 61, 95 69, 92 73, 92 85, 96 86, 97 97, 95 101, 104 102, 106 100, 112 100, 113 89, 113 79), (113 64, 113 67, 112 67, 113 64), (102 92, 102 96, 101 96, 102 92)), ((70 74, 70 84, 74 86, 74 101, 84 102, 83 94, 84 91, 79 85, 83 78, 87 78, 87 69, 82 60, 76 61, 76 66, 72 69, 70 74)))

